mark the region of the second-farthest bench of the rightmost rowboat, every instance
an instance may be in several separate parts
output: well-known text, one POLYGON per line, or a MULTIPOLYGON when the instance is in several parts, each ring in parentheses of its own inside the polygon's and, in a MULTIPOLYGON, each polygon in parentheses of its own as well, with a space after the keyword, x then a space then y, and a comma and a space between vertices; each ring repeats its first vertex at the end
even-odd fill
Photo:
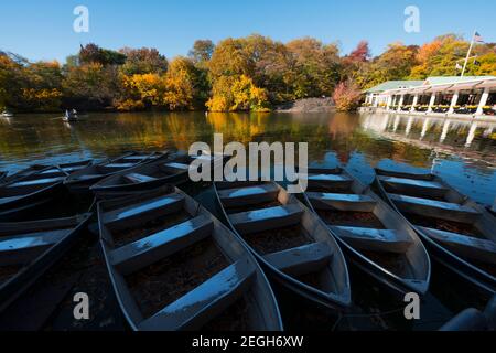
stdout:
POLYGON ((406 213, 461 223, 473 223, 481 216, 475 208, 457 203, 397 194, 389 194, 389 196, 398 208, 406 213))

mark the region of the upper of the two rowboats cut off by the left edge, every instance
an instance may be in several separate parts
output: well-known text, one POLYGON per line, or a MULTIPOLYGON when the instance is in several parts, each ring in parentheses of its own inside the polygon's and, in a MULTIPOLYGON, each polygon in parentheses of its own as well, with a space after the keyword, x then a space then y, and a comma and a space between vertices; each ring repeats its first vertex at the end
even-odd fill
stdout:
POLYGON ((0 184, 0 222, 19 220, 63 192, 67 173, 45 168, 0 184), (50 173, 47 171, 50 170, 50 173))

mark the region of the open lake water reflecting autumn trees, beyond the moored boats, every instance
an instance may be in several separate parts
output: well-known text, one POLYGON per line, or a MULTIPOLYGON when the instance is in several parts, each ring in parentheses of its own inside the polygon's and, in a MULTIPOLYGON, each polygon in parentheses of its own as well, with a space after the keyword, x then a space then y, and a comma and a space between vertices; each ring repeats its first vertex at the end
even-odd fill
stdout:
MULTIPOLYGON (((397 115, 347 114, 91 114, 63 122, 54 115, 0 118, 0 170, 177 148, 195 141, 309 142, 309 160, 336 162, 364 182, 373 167, 405 163, 432 170, 477 202, 496 197, 496 124, 397 115)), ((406 168, 406 165, 398 165, 406 168)))

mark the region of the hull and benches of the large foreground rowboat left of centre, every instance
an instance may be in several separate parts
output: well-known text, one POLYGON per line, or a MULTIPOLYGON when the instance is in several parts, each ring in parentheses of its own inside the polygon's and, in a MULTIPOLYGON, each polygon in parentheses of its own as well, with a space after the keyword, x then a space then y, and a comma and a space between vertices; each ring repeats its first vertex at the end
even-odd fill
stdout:
MULTIPOLYGON (((282 330, 276 298, 256 259, 233 232, 179 189, 168 185, 136 196, 101 201, 98 203, 98 221, 109 277, 132 330, 198 330, 215 321, 217 315, 240 298, 247 303, 246 311, 254 314, 249 315, 250 330, 282 330), (121 229, 147 228, 147 223, 158 218, 166 222, 169 216, 174 217, 173 214, 177 212, 188 215, 185 222, 154 228, 153 232, 158 233, 152 232, 131 243, 116 245, 115 235, 121 229), (126 276, 141 276, 140 271, 144 268, 164 259, 170 260, 177 253, 203 240, 214 242, 227 259, 227 267, 202 280, 193 289, 186 285, 185 293, 172 298, 172 302, 145 315, 129 289, 126 276)), ((195 257, 194 254, 191 256, 195 257)))

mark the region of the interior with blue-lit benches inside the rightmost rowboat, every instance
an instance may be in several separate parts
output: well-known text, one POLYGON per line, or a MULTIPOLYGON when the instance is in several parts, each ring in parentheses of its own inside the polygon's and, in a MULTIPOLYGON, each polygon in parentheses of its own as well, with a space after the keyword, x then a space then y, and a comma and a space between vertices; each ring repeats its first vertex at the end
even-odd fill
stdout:
POLYGON ((377 170, 401 213, 431 239, 496 276, 496 220, 432 174, 377 170))

